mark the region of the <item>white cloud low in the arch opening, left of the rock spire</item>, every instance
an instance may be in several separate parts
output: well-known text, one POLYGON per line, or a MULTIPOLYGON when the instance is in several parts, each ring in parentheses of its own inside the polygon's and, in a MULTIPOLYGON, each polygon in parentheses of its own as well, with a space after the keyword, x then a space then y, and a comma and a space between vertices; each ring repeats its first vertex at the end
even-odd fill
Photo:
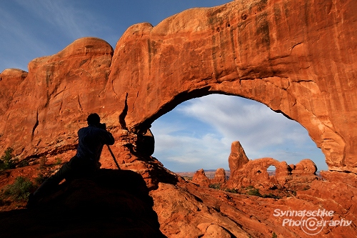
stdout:
MULTIPOLYGON (((189 123, 189 122, 188 122, 189 123)), ((228 169, 229 148, 216 134, 182 134, 188 127, 163 127, 166 124, 153 124, 155 154, 166 167, 175 172, 195 169, 225 167, 228 169), (170 128, 170 129, 166 129, 170 128), (222 153, 222 151, 224 151, 222 153), (194 169, 193 169, 194 168, 194 169)), ((168 124, 166 124, 168 126, 168 124)), ((173 125, 177 126, 176 124, 173 125)), ((189 124, 187 124, 189 126, 189 124)))

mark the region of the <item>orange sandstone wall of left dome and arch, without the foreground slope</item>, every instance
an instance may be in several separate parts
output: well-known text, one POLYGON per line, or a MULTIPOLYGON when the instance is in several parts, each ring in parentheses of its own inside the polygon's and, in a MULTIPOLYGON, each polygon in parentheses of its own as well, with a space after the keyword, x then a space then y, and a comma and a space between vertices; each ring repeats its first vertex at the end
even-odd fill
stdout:
POLYGON ((92 111, 113 132, 138 132, 182 101, 218 93, 296 120, 329 169, 357 172, 356 11, 353 0, 233 1, 131 26, 114 51, 79 39, 31 61, 27 76, 11 79, 12 97, 1 86, 0 152, 74 149, 92 111))

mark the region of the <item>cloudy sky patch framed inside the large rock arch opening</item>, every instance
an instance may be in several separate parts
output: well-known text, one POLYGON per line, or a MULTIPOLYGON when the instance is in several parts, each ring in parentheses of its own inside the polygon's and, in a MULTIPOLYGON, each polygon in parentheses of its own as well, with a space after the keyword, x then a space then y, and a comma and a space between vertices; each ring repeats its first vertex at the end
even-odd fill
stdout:
POLYGON ((239 96, 211 94, 183 101, 151 127, 154 157, 174 172, 228 168, 231 143, 240 141, 249 159, 273 157, 296 164, 325 157, 297 122, 239 96))

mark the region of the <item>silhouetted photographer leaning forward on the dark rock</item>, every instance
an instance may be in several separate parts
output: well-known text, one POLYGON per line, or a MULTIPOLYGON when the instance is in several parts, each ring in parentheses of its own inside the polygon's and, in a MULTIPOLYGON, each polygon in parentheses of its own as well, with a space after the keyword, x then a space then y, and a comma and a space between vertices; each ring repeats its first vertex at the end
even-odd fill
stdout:
POLYGON ((29 197, 27 207, 31 207, 63 180, 93 177, 100 167, 99 159, 104 144, 114 144, 114 137, 106 131, 106 124, 101 124, 98 114, 90 114, 87 118, 88 127, 78 131, 79 145, 77 153, 66 162, 56 174, 46 179, 34 194, 29 197))

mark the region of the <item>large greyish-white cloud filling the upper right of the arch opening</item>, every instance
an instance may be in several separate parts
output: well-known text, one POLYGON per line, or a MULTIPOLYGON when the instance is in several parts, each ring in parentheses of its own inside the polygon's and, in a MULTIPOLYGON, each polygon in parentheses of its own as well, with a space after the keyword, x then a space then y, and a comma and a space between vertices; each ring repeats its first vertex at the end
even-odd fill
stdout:
POLYGON ((180 111, 216 128, 228 144, 238 140, 263 149, 286 142, 306 142, 307 132, 303 133, 300 124, 263 104, 237 96, 205 96, 186 104, 180 111))

